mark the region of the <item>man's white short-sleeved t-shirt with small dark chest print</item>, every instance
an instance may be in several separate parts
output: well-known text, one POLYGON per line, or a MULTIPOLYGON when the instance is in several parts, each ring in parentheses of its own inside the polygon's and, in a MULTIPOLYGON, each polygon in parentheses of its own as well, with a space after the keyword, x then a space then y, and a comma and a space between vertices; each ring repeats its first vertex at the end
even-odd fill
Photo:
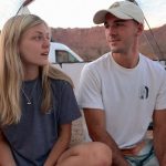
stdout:
POLYGON ((118 147, 133 146, 145 136, 154 110, 166 108, 166 71, 142 54, 134 69, 125 69, 106 53, 84 66, 77 102, 105 111, 106 129, 118 147))

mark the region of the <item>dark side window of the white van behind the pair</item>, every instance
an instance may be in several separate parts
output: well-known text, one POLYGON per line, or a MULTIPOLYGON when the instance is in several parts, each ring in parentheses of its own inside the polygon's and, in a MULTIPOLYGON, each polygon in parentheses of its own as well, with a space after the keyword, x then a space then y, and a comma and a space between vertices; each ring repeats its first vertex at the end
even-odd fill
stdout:
POLYGON ((74 58, 70 52, 63 50, 55 51, 55 59, 58 63, 79 62, 79 60, 76 60, 76 58, 74 58))

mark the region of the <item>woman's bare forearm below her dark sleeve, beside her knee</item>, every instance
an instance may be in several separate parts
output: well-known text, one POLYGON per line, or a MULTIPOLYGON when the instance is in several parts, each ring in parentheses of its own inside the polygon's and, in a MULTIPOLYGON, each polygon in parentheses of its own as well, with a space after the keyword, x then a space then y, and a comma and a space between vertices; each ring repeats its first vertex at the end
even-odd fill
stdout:
POLYGON ((44 166, 54 166, 61 154, 69 147, 71 141, 71 124, 63 124, 60 126, 60 136, 54 144, 44 166))

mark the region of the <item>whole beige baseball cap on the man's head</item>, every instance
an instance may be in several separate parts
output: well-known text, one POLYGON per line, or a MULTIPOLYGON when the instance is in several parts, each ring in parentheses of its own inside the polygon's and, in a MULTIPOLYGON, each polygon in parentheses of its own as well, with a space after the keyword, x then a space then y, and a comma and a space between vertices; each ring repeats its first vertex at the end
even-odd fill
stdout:
POLYGON ((116 18, 123 19, 123 20, 135 20, 142 24, 144 24, 144 13, 142 9, 129 1, 118 1, 114 2, 108 9, 103 9, 97 11, 94 14, 93 22, 95 24, 104 23, 105 22, 105 15, 107 13, 111 13, 115 15, 116 18))

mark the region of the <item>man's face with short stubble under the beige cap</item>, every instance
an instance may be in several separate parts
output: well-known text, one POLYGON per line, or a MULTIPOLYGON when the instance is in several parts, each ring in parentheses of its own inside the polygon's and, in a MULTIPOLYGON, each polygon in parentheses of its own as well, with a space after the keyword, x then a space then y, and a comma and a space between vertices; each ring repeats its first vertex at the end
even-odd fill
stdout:
POLYGON ((143 32, 143 25, 134 20, 122 20, 110 13, 105 17, 104 25, 106 40, 114 53, 125 53, 135 46, 137 37, 143 32))

